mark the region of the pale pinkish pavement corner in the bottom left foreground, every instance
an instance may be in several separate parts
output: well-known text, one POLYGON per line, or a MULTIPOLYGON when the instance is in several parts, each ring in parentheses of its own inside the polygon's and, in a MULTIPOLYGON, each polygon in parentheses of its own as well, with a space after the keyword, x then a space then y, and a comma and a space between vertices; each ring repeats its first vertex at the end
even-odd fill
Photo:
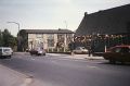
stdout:
POLYGON ((0 86, 44 86, 42 81, 35 79, 0 64, 0 86))

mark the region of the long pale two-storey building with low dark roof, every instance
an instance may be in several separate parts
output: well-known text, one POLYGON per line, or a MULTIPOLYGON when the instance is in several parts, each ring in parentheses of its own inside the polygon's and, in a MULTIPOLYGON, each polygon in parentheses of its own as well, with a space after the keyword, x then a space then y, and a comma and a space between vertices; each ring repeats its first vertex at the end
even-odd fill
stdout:
POLYGON ((74 32, 69 29, 22 29, 21 33, 23 30, 27 36, 28 49, 41 47, 48 51, 56 49, 65 51, 74 37, 74 32))

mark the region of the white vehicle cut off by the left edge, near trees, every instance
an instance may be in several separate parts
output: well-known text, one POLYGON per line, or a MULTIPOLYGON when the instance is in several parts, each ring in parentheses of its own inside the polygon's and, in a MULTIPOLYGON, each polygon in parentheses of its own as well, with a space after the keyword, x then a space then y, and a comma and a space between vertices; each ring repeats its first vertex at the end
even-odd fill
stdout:
POLYGON ((0 47, 0 58, 11 58, 13 50, 10 47, 0 47))

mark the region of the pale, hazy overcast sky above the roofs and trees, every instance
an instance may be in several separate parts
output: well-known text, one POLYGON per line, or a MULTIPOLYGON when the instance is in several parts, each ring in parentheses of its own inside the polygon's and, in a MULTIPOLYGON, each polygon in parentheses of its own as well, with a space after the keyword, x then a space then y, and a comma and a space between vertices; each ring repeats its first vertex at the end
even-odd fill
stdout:
POLYGON ((84 12, 129 4, 130 0, 0 0, 0 29, 16 36, 20 29, 76 30, 84 12))

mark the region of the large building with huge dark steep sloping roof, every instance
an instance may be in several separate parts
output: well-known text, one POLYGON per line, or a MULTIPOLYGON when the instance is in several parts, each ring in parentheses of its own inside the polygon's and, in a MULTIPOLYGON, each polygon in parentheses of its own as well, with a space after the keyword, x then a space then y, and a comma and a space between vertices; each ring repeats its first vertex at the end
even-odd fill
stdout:
POLYGON ((94 51, 104 51, 105 46, 130 45, 130 4, 91 14, 86 12, 75 41, 94 51))

